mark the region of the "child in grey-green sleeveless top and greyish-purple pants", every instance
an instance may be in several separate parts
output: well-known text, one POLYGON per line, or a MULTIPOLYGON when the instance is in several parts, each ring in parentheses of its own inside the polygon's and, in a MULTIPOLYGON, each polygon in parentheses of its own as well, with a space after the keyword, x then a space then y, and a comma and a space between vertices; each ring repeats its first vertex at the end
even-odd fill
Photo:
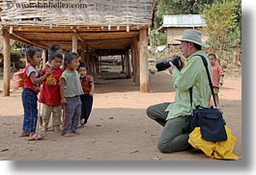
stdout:
POLYGON ((68 52, 64 58, 66 70, 61 76, 61 104, 63 105, 64 123, 62 136, 71 137, 71 134, 77 134, 77 126, 81 115, 80 95, 83 89, 79 80, 77 68, 79 66, 78 55, 68 52))

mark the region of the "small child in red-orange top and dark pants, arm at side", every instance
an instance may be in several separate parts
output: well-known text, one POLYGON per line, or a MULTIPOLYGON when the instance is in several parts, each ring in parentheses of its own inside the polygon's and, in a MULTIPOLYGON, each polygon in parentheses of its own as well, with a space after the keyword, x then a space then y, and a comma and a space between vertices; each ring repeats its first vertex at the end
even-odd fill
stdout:
POLYGON ((87 75, 86 63, 80 62, 78 72, 80 74, 80 81, 84 92, 84 94, 80 95, 82 102, 80 124, 84 125, 87 123, 90 113, 92 112, 95 84, 93 77, 87 75))

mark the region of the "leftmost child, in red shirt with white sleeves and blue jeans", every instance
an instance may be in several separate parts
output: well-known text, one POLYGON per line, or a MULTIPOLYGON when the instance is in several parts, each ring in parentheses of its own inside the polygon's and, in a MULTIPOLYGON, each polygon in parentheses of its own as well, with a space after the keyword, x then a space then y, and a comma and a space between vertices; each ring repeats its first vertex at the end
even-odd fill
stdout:
POLYGON ((43 135, 36 133, 38 121, 38 93, 40 84, 50 74, 46 71, 42 77, 36 66, 40 65, 42 60, 41 50, 36 47, 29 47, 27 51, 27 62, 29 63, 24 71, 24 87, 22 90, 22 104, 24 109, 23 132, 20 137, 28 137, 28 139, 40 139, 43 135))

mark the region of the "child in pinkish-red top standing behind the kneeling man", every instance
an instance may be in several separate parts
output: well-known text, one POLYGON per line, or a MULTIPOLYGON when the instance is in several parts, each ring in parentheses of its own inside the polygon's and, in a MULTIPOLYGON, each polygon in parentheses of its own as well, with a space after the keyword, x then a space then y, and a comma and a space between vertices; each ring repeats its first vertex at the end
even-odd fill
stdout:
MULTIPOLYGON (((218 99, 218 92, 219 92, 219 87, 222 87, 223 85, 223 77, 224 73, 222 71, 221 66, 216 63, 216 56, 215 54, 209 54, 208 58, 211 62, 212 66, 212 71, 213 71, 213 92, 214 92, 214 98, 216 100, 216 105, 219 105, 219 99, 218 99)), ((208 102, 208 106, 210 106, 211 103, 211 98, 208 102)))

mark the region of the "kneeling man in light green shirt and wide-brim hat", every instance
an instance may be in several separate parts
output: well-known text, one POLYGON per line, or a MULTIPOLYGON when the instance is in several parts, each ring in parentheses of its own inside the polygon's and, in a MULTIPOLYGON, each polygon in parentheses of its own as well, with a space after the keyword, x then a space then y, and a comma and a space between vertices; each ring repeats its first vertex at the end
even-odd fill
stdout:
MULTIPOLYGON (((209 45, 202 43, 201 32, 187 29, 181 41, 180 49, 186 59, 185 66, 179 70, 172 62, 169 72, 172 76, 172 85, 176 89, 175 102, 161 103, 147 109, 147 115, 163 126, 161 136, 158 139, 157 147, 162 153, 182 151, 189 147, 187 142, 188 133, 185 132, 185 123, 191 114, 189 87, 193 87, 192 107, 200 105, 207 107, 211 96, 208 77, 204 63, 200 56, 207 58, 202 46, 209 45)), ((211 72, 209 60, 208 68, 211 72)))

